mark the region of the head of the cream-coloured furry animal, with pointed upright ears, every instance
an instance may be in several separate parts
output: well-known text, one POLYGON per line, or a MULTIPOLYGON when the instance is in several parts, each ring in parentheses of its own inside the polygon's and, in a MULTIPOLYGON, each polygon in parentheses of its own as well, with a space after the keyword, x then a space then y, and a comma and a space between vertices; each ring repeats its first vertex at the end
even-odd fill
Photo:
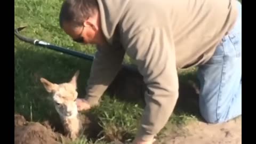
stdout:
POLYGON ((55 109, 61 117, 72 117, 77 115, 77 77, 79 70, 67 83, 56 84, 48 81, 45 78, 40 78, 44 88, 47 92, 52 93, 52 100, 55 105, 55 109))

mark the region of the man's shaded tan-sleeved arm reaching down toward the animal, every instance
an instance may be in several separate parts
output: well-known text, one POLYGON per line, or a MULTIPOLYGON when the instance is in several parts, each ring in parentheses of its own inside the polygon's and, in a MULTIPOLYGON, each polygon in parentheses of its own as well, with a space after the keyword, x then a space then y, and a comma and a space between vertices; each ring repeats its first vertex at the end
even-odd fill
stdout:
POLYGON ((98 46, 97 50, 86 87, 85 100, 90 106, 98 104, 100 97, 121 69, 125 54, 121 46, 98 46))

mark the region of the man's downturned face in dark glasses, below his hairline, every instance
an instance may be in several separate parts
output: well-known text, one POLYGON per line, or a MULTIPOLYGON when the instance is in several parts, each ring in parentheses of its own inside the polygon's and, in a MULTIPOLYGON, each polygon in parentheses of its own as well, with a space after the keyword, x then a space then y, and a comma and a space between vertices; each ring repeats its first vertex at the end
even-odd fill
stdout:
POLYGON ((86 23, 82 26, 74 27, 70 23, 64 22, 63 30, 77 43, 97 44, 97 41, 95 41, 97 31, 91 26, 86 25, 86 23))

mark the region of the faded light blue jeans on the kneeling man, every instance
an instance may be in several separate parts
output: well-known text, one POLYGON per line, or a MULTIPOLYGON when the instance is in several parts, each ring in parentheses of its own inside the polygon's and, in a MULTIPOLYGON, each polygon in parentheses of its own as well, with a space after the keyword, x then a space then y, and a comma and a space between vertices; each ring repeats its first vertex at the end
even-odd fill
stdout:
POLYGON ((222 38, 213 57, 198 67, 199 109, 208 123, 227 122, 242 115, 242 5, 230 34, 222 38))

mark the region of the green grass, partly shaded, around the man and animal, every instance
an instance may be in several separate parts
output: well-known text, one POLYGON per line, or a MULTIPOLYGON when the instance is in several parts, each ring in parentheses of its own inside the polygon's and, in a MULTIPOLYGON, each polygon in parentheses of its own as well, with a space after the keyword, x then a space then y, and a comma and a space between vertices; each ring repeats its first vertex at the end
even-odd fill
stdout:
MULTIPOLYGON (((15 28, 27 26, 21 34, 28 37, 38 38, 55 45, 70 47, 72 50, 93 54, 93 45, 80 45, 71 39, 60 29, 58 22, 61 0, 15 0, 15 28)), ((61 54, 43 47, 36 47, 19 41, 14 41, 14 100, 15 113, 22 114, 29 121, 45 121, 50 117, 58 116, 52 103, 47 100, 48 93, 39 82, 40 77, 46 77, 52 82, 66 82, 79 69, 81 74, 78 79, 78 91, 83 91, 86 79, 89 77, 91 62, 61 54)), ((130 62, 129 58, 125 59, 130 62)), ((181 71, 180 81, 187 83, 188 80, 195 81, 196 69, 181 71)), ((189 97, 189 93, 185 94, 189 97)), ((82 97, 83 95, 79 95, 82 97)), ((97 116, 105 136, 100 142, 107 138, 125 137, 133 139, 137 130, 142 107, 136 102, 123 102, 118 99, 103 95, 103 101, 99 107, 89 111, 97 116), (125 134, 129 133, 129 135, 125 134)), ((197 106, 193 107, 191 102, 180 100, 175 108, 166 129, 180 124, 186 124, 189 119, 197 119, 197 106), (183 103, 182 103, 183 101, 183 103), (186 106, 186 107, 183 107, 186 106)), ((164 133, 166 129, 161 131, 164 133)), ((160 135, 161 136, 161 135, 160 135)), ((159 136, 159 137, 160 137, 159 136)), ((79 140, 86 143, 85 138, 79 140)))

